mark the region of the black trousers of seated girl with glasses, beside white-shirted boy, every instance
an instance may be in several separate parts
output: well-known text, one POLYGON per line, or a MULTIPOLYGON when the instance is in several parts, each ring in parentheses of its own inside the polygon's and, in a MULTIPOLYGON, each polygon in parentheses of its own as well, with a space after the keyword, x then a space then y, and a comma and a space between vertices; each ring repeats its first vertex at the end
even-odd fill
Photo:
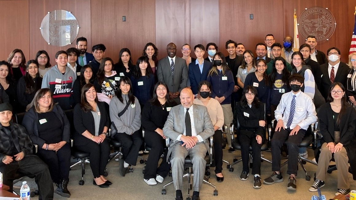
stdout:
POLYGON ((261 146, 265 138, 262 137, 261 144, 257 143, 256 134, 252 131, 241 130, 239 142, 241 146, 242 170, 249 172, 248 158, 250 155, 250 145, 252 147, 252 172, 251 174, 261 174, 261 146))

